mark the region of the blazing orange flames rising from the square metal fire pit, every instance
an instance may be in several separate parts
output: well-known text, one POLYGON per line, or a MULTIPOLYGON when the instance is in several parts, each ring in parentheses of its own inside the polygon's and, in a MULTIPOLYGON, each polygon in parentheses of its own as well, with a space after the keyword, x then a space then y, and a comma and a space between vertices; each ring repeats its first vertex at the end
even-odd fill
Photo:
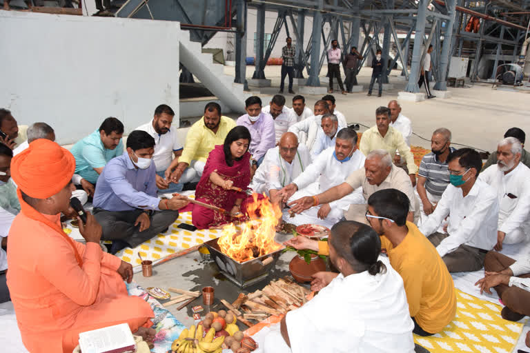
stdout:
POLYGON ((257 259, 282 247, 274 241, 282 211, 268 197, 258 200, 257 196, 253 194, 254 201, 248 206, 250 221, 242 223, 239 230, 233 223, 225 225, 223 235, 217 241, 219 250, 239 263, 257 259))

